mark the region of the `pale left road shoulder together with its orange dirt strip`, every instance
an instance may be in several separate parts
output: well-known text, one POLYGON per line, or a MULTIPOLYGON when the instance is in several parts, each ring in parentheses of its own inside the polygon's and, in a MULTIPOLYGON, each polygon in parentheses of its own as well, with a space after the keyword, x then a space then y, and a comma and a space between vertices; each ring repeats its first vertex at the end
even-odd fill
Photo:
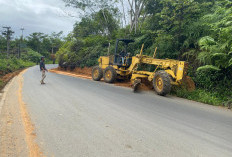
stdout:
POLYGON ((8 156, 42 156, 35 143, 36 133, 26 104, 22 100, 23 73, 4 88, 0 102, 0 154, 8 156))

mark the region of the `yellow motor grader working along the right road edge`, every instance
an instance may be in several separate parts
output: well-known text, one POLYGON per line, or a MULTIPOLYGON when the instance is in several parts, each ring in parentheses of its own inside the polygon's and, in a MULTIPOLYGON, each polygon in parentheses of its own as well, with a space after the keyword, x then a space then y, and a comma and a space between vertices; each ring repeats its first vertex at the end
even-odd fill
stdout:
MULTIPOLYGON (((170 92, 172 85, 181 85, 187 74, 187 62, 172 59, 157 59, 156 50, 153 57, 143 55, 141 51, 136 56, 130 56, 127 52, 128 44, 134 42, 129 39, 117 39, 115 54, 101 56, 98 59, 99 65, 93 67, 92 78, 99 81, 104 78, 107 83, 113 83, 117 78, 128 79, 132 81, 134 87, 141 83, 141 80, 148 80, 153 84, 154 90, 158 95, 166 95, 170 92), (123 42, 125 48, 120 52, 118 44, 123 42), (140 65, 153 66, 152 71, 140 69, 140 65)), ((136 87, 135 87, 136 88, 136 87)))

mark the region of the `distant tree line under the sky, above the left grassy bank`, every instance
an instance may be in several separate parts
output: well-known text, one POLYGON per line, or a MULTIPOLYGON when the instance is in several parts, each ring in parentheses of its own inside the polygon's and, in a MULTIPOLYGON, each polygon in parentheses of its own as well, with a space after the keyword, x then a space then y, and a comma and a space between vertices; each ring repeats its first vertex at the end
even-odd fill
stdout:
MULTIPOLYGON (((9 58, 17 57, 23 60, 38 62, 40 56, 52 60, 60 46, 63 44, 62 33, 51 33, 50 35, 35 32, 26 38, 13 38, 11 36, 9 58), (20 52, 20 55, 19 55, 20 52)), ((6 35, 0 35, 0 58, 7 58, 6 35)))

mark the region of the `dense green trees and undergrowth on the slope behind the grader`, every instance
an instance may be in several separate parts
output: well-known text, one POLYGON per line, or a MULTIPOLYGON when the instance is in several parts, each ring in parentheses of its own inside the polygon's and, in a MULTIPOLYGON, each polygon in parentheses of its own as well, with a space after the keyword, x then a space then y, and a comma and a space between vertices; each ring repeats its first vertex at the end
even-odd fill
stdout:
POLYGON ((93 66, 101 55, 113 54, 117 38, 132 38, 131 55, 145 44, 144 53, 189 62, 197 90, 173 94, 212 105, 231 101, 232 2, 229 0, 64 0, 85 11, 57 52, 59 63, 71 68, 93 66), (133 3, 132 3, 133 2, 133 3), (119 10, 118 6, 123 8, 119 10), (94 11, 92 11, 94 10, 94 11), (131 20, 127 21, 127 12, 131 20), (113 45, 113 46, 112 46, 113 45))

